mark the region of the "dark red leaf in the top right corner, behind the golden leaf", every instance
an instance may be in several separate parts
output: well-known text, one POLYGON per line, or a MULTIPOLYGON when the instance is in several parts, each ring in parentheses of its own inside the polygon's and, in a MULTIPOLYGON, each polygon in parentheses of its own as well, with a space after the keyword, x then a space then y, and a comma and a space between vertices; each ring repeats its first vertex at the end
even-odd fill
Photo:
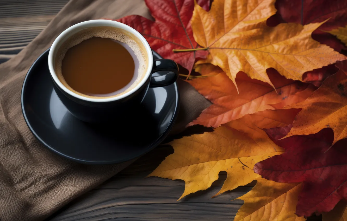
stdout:
POLYGON ((334 48, 341 52, 346 50, 334 36, 324 32, 338 27, 347 25, 347 1, 345 0, 277 0, 276 8, 278 9, 277 18, 280 22, 283 20, 288 23, 299 23, 307 25, 310 23, 322 22, 327 19, 323 25, 312 33, 312 38, 322 44, 334 48))

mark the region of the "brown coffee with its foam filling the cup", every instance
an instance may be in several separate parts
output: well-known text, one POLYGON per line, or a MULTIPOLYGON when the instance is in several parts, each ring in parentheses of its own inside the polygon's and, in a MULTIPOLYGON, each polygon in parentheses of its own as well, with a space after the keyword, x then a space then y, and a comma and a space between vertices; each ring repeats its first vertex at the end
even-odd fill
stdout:
POLYGON ((114 97, 134 88, 145 75, 146 57, 134 36, 114 27, 92 27, 68 38, 55 70, 69 90, 92 98, 114 97))

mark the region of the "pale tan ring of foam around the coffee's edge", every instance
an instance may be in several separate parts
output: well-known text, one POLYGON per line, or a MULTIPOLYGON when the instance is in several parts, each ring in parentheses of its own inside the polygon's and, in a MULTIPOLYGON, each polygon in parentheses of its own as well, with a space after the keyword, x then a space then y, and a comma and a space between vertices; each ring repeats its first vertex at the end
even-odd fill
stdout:
POLYGON ((54 59, 55 60, 54 70, 56 72, 56 75, 57 75, 59 81, 65 87, 67 87, 70 91, 73 91, 74 93, 76 93, 78 95, 81 95, 84 97, 89 97, 89 98, 103 99, 103 98, 117 97, 119 95, 125 94, 126 92, 132 90, 143 79, 143 77, 145 76, 145 73, 147 71, 147 58, 145 56, 146 50, 140 42, 137 42, 139 40, 136 41, 135 39, 136 39, 136 37, 133 36, 131 33, 128 33, 125 30, 120 29, 120 28, 109 27, 109 26, 86 28, 86 29, 83 29, 80 32, 70 36, 59 47, 59 50, 58 50, 56 57, 54 59), (62 74, 62 71, 61 71, 61 66, 62 66, 62 61, 65 57, 66 52, 71 47, 81 43, 84 40, 92 38, 92 37, 111 38, 113 40, 127 44, 134 51, 134 54, 136 55, 136 58, 138 59, 138 62, 139 62, 138 71, 137 71, 137 78, 132 83, 132 85, 130 85, 125 91, 122 91, 119 94, 108 96, 108 97, 90 96, 90 95, 82 94, 81 92, 74 90, 65 81, 63 74, 62 74))

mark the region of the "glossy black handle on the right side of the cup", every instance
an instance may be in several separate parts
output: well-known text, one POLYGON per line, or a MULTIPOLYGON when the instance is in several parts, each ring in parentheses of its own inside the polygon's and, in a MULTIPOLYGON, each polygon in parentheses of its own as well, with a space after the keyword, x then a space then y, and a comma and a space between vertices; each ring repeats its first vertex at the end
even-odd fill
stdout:
POLYGON ((175 83, 178 79, 178 65, 169 59, 158 59, 153 62, 150 87, 164 87, 175 83))

